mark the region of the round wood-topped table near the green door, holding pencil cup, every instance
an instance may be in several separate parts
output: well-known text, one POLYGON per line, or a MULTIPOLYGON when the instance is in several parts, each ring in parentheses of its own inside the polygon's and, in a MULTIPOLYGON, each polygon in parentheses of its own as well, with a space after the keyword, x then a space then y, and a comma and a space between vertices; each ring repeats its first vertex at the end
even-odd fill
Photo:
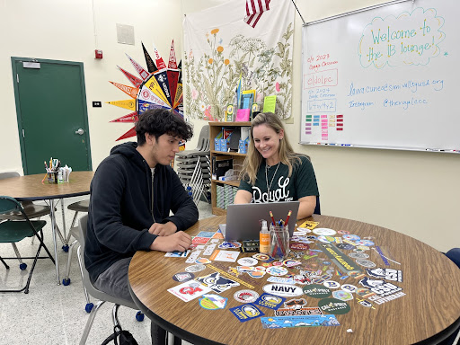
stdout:
POLYGON ((56 199, 78 197, 90 193, 90 183, 93 180, 93 172, 72 172, 68 183, 49 183, 43 180, 44 173, 34 175, 11 177, 0 180, 0 195, 13 197, 18 201, 49 200, 51 229, 54 241, 54 254, 56 261, 57 285, 60 284, 59 266, 57 256, 57 227, 55 206, 56 199))

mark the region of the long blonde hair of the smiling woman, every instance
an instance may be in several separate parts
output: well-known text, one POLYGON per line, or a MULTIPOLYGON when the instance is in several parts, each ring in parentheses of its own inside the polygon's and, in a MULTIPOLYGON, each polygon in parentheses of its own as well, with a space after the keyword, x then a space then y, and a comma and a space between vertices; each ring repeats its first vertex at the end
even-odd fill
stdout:
MULTIPOLYGON (((249 136, 249 146, 248 146, 248 155, 243 162, 243 170, 240 174, 241 179, 249 179, 249 182, 254 185, 257 177, 257 172, 263 161, 263 157, 259 151, 254 146, 254 138, 252 137, 252 130, 254 127, 260 125, 267 125, 270 128, 273 128, 277 134, 283 129, 285 136, 279 140, 279 158, 282 164, 288 165, 289 168, 289 177, 292 175, 292 170, 294 164, 302 164, 302 161, 299 158, 300 154, 296 154, 292 149, 292 146, 289 144, 288 137, 286 136, 286 130, 283 126, 283 122, 279 119, 277 115, 272 112, 261 112, 251 123, 251 133, 249 136)), ((308 156, 306 156, 308 157, 308 156)))

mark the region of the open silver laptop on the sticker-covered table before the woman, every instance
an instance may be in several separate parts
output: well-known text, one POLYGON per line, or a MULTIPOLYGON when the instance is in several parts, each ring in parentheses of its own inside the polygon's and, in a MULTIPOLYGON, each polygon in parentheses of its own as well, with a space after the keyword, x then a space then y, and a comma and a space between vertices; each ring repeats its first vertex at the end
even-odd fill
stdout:
POLYGON ((221 226, 222 234, 226 241, 259 240, 261 219, 265 219, 270 228, 270 211, 277 222, 279 219, 286 221, 288 212, 292 211, 288 221, 289 235, 292 236, 299 204, 299 201, 282 201, 229 205, 226 210, 226 226, 221 226))

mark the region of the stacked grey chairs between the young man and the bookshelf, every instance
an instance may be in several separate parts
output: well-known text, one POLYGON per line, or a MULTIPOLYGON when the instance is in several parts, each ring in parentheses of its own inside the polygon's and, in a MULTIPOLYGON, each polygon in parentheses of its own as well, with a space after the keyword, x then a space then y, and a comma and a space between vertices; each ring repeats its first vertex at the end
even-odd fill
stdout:
POLYGON ((177 174, 195 202, 210 200, 211 168, 209 160, 209 125, 201 128, 198 146, 176 154, 177 174))

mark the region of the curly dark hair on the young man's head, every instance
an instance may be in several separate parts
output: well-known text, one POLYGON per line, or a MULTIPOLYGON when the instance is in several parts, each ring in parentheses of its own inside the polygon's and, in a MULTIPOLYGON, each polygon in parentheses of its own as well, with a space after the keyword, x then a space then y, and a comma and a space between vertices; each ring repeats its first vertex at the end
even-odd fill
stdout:
POLYGON ((174 111, 153 109, 141 114, 136 122, 138 146, 146 144, 146 133, 155 136, 156 140, 168 134, 187 141, 193 137, 193 128, 174 111))

